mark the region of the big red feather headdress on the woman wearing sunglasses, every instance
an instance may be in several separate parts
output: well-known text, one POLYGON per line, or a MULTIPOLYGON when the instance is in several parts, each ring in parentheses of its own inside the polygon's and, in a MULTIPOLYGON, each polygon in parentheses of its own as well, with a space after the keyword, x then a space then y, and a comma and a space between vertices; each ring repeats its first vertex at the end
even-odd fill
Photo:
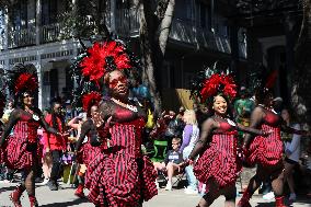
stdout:
POLYGON ((88 56, 83 58, 80 67, 82 67, 82 74, 96 83, 107 71, 131 68, 124 46, 115 41, 104 44, 95 43, 88 50, 88 56))

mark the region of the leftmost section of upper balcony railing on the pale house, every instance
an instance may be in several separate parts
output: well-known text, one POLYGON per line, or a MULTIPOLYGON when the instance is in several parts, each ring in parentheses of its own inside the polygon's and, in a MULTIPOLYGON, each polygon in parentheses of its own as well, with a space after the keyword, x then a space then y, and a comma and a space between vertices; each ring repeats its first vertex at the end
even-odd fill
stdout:
POLYGON ((8 33, 8 47, 24 47, 36 44, 35 27, 9 31, 8 33))

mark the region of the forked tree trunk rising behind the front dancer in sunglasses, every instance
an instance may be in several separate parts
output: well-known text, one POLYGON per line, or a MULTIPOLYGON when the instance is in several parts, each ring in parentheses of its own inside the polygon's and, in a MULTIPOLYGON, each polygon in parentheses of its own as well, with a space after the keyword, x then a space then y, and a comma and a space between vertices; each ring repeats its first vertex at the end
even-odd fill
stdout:
POLYGON ((150 0, 137 2, 139 7, 141 61, 143 65, 142 81, 148 83, 150 93, 154 99, 154 112, 160 115, 162 101, 158 89, 162 87, 161 68, 172 24, 175 0, 159 1, 157 12, 160 16, 154 14, 151 4, 150 0), (163 16, 161 16, 161 11, 165 11, 163 16))

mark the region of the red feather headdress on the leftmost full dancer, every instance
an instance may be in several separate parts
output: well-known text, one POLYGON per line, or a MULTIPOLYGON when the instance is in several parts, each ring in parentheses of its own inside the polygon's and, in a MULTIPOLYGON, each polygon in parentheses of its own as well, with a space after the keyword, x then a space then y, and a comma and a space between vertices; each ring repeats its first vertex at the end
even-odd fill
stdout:
POLYGON ((38 88, 38 80, 35 74, 23 72, 15 80, 15 95, 21 91, 34 92, 38 88))

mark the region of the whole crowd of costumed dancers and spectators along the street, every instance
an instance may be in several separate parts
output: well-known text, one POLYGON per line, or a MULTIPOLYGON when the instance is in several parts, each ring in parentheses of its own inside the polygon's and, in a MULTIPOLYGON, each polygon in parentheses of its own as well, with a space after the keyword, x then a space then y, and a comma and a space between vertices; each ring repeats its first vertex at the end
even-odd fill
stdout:
MULTIPOLYGON (((157 116, 147 88, 129 84, 136 64, 122 42, 95 43, 81 57, 78 69, 84 81, 94 84, 80 95, 80 112, 61 99, 53 99, 44 113, 35 107, 38 83, 30 65, 12 69, 9 87, 14 102, 8 101, 4 108, 5 95, 0 95, 3 179, 12 181, 15 172, 22 173, 10 194, 14 206, 21 206, 24 191, 31 206, 38 206, 37 177, 58 191, 70 156, 79 165, 74 195, 85 197, 88 188, 88 199, 95 206, 142 206, 158 194, 159 174, 166 177, 165 191, 173 191, 173 176, 185 174, 184 192, 200 193, 199 207, 210 206, 220 195, 226 206, 235 206, 235 182, 243 165, 257 170, 239 207, 250 206, 263 182, 272 184, 277 207, 285 206, 285 183, 295 202, 292 172, 301 162, 300 139, 310 133, 301 129, 288 107, 279 107, 272 85, 260 84, 254 95, 241 88, 237 97, 238 85, 230 74, 205 72, 196 79, 192 110, 181 106, 177 113, 157 116), (168 142, 162 161, 150 159, 154 140, 168 142)), ((310 157, 304 171, 309 175, 310 157)))

